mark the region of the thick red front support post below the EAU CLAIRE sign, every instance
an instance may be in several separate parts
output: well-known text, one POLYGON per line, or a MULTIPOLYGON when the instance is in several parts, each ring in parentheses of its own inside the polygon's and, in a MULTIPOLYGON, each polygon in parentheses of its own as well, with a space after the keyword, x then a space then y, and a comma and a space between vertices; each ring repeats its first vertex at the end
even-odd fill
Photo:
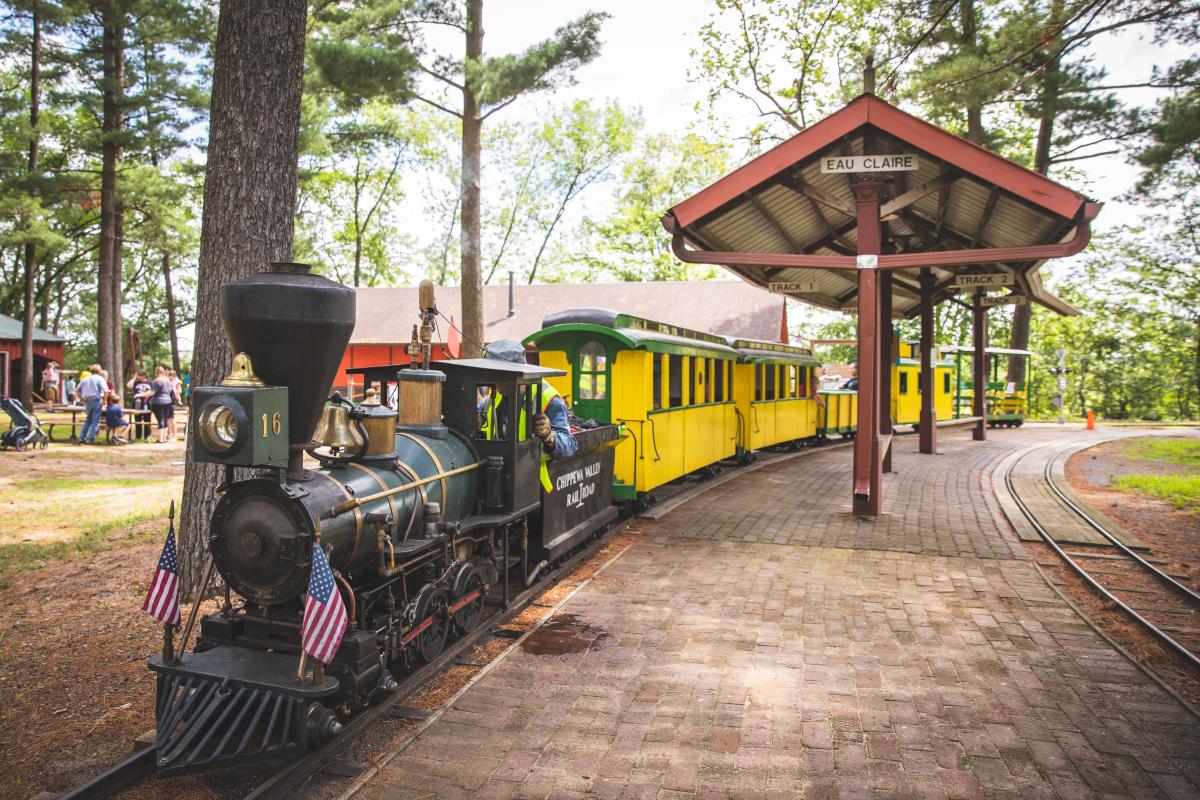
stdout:
POLYGON ((877 517, 882 507, 880 434, 880 193, 881 181, 856 182, 858 219, 858 433, 854 437, 853 512, 877 517))

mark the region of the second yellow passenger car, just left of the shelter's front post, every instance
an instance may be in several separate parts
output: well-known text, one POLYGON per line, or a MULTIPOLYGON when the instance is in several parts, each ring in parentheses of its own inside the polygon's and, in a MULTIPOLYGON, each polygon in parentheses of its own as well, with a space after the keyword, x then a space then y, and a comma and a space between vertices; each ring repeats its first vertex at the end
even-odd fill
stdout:
POLYGON ((794 447, 817 435, 816 368, 812 350, 780 342, 730 339, 737 450, 743 459, 763 447, 794 447))

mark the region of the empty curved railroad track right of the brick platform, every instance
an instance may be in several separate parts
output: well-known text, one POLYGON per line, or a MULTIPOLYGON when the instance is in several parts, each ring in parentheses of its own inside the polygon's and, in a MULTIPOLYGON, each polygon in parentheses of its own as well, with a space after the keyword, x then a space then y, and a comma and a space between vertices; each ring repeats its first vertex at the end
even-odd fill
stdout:
POLYGON ((1106 601, 1120 608, 1140 627, 1177 654, 1192 668, 1200 672, 1200 594, 1180 583, 1175 577, 1158 569, 1148 559, 1130 549, 1100 522, 1081 507, 1055 481, 1054 464, 1068 450, 1062 447, 1046 459, 1043 473, 1051 494, 1084 523, 1109 542, 1097 552, 1067 551, 1055 540, 1038 519, 1030 504, 1018 493, 1013 482, 1016 465, 1025 458, 1042 453, 1045 446, 1033 447, 1009 463, 1004 473, 1004 486, 1025 518, 1033 525, 1042 540, 1085 583, 1106 601), (1103 569, 1102 569, 1103 567, 1103 569), (1118 585, 1114 578, 1130 579, 1150 576, 1153 584, 1118 585), (1146 589, 1154 585, 1156 589, 1146 589))

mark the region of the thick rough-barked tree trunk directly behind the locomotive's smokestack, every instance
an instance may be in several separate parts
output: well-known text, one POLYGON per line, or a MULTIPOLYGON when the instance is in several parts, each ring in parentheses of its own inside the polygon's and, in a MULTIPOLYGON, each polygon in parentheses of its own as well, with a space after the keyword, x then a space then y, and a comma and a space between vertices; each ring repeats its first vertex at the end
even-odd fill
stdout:
MULTIPOLYGON (((224 378, 229 347, 221 331, 220 289, 292 258, 306 0, 222 0, 200 224, 192 385, 224 378)), ((208 558, 205 540, 221 468, 192 458, 180 513, 182 594, 192 597, 208 558)))

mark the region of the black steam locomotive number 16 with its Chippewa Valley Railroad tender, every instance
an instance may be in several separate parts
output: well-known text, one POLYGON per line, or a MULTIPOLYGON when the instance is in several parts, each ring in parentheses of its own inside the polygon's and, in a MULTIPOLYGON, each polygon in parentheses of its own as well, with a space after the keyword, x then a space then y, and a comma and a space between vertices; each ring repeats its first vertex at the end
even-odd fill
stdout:
POLYGON ((224 467, 208 547, 227 585, 194 651, 150 658, 160 772, 298 753, 396 690, 456 633, 504 606, 547 561, 611 523, 619 429, 581 431, 548 462, 527 433, 541 380, 496 360, 430 361, 436 314, 422 284, 412 365, 361 402, 326 398, 354 329, 354 291, 299 264, 228 284, 229 377, 192 395, 192 455, 224 467), (481 432, 478 398, 503 419, 481 432), (394 403, 388 401, 395 397, 394 403), (318 467, 307 468, 305 453, 318 467), (312 553, 335 572, 349 627, 328 666, 305 663, 300 627, 312 553))

